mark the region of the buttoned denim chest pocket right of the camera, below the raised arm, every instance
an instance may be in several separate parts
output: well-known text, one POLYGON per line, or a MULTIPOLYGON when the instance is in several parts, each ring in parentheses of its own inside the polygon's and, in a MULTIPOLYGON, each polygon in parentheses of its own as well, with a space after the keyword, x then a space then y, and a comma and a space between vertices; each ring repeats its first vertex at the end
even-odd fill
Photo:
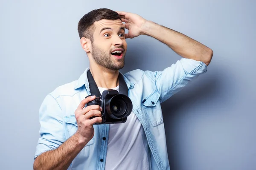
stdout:
POLYGON ((154 91, 148 95, 142 102, 142 109, 148 116, 153 127, 163 123, 163 114, 159 101, 160 93, 154 91))

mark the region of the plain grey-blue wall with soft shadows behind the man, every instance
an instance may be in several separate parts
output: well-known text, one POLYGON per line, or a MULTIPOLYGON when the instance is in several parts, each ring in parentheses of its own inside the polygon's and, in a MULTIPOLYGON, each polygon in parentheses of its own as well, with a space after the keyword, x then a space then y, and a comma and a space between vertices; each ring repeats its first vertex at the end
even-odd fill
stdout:
MULTIPOLYGON (((162 105, 171 168, 255 169, 253 0, 2 0, 0 169, 32 169, 41 102, 89 66, 77 24, 88 11, 102 7, 140 14, 214 51, 207 74, 162 105)), ((151 37, 127 42, 122 73, 163 70, 180 59, 151 37)))

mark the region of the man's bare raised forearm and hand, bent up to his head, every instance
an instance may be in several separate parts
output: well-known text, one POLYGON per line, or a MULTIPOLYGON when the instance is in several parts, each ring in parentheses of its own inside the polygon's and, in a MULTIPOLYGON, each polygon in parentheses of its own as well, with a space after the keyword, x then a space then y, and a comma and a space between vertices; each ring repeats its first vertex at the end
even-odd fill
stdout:
POLYGON ((212 49, 200 42, 170 28, 145 20, 137 14, 124 11, 117 11, 117 13, 120 15, 122 22, 125 22, 125 28, 129 30, 128 34, 125 34, 125 38, 148 35, 165 43, 184 58, 202 61, 206 65, 209 65, 211 62, 213 56, 212 49))

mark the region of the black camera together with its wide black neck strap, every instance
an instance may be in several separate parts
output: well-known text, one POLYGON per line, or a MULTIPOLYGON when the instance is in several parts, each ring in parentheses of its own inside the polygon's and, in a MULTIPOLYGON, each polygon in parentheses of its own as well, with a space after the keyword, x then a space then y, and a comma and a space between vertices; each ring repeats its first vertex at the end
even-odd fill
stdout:
MULTIPOLYGON (((90 117, 92 120, 99 119, 98 117, 101 118, 101 122, 96 121, 94 124, 99 125, 126 122, 127 117, 132 112, 132 102, 128 97, 128 87, 122 74, 118 75, 120 93, 116 90, 108 89, 103 91, 101 94, 90 70, 87 71, 87 78, 91 95, 97 96, 94 100, 87 102, 87 107, 96 105, 102 108, 100 115, 93 115, 90 117)), ((90 95, 85 97, 85 99, 87 98, 90 98, 90 95)))

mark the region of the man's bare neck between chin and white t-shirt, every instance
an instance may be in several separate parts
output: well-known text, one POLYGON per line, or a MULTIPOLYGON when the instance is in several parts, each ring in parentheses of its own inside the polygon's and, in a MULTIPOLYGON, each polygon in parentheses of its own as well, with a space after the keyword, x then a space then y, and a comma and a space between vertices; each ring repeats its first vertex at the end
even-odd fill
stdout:
POLYGON ((98 87, 111 89, 119 85, 119 71, 111 71, 99 66, 91 67, 90 65, 90 72, 98 87))

